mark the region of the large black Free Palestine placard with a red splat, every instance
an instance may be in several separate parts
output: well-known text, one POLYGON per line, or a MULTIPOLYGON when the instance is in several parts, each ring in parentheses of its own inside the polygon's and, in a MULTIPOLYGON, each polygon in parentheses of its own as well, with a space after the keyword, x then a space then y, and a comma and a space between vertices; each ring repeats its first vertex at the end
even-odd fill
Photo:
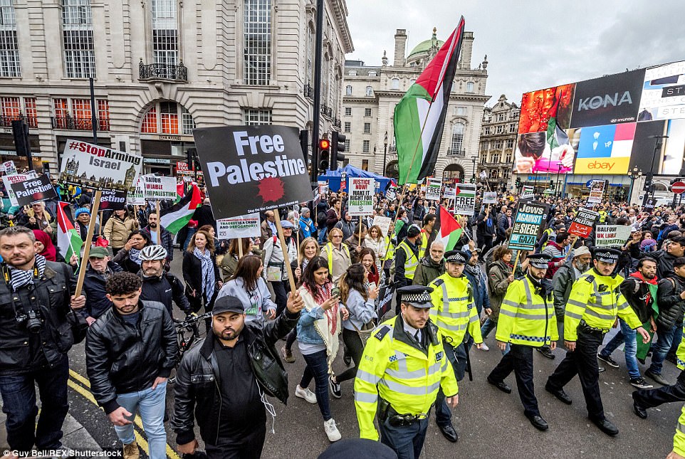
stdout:
POLYGON ((296 127, 204 127, 193 135, 214 218, 311 201, 307 163, 296 127))

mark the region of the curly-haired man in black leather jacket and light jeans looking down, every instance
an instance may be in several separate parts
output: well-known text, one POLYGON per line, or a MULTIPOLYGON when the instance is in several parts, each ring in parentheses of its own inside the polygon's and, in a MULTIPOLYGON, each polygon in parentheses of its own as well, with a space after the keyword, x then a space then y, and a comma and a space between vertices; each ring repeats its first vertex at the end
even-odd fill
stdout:
POLYGON ((150 459, 167 457, 164 408, 167 378, 177 362, 176 329, 160 302, 140 300, 142 282, 116 273, 105 289, 113 307, 88 329, 85 362, 90 392, 124 445, 125 459, 139 458, 133 418, 138 411, 150 459))

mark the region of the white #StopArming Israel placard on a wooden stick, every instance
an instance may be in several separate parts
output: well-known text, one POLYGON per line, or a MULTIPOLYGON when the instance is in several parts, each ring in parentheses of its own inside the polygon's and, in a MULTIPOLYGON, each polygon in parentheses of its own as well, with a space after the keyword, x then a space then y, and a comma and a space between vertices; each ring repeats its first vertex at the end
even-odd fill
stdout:
POLYGON ((107 147, 67 140, 59 181, 103 190, 133 191, 142 157, 107 147))

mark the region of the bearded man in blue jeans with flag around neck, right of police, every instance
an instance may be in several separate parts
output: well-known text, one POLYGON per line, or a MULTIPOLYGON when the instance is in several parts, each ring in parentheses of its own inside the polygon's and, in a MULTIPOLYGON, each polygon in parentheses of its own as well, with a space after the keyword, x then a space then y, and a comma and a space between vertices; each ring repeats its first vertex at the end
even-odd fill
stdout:
MULTIPOLYGON (((621 293, 627 300, 632 310, 637 314, 644 327, 649 327, 654 333, 657 329, 654 323, 654 309, 657 301, 657 260, 654 258, 642 258, 637 265, 637 271, 621 283, 621 293)), ((597 354, 597 359, 608 365, 618 368, 617 362, 611 358, 611 353, 625 342, 625 361, 628 367, 630 384, 637 389, 652 389, 642 378, 639 366, 637 366, 637 338, 634 329, 630 328, 623 319, 619 319, 621 330, 614 335, 612 340, 597 354)), ((642 356, 644 359, 644 355, 642 356)))

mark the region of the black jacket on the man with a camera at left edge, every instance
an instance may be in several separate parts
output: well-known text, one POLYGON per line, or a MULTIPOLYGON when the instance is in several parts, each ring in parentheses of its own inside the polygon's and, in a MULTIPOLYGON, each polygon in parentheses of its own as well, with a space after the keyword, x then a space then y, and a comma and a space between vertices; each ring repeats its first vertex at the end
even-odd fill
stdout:
POLYGON ((43 276, 33 286, 25 285, 13 292, 11 286, 0 281, 0 374, 26 373, 62 361, 73 345, 67 315, 75 287, 71 267, 53 261, 46 261, 43 276), (41 316, 39 333, 28 332, 26 320, 17 322, 22 312, 41 316))

